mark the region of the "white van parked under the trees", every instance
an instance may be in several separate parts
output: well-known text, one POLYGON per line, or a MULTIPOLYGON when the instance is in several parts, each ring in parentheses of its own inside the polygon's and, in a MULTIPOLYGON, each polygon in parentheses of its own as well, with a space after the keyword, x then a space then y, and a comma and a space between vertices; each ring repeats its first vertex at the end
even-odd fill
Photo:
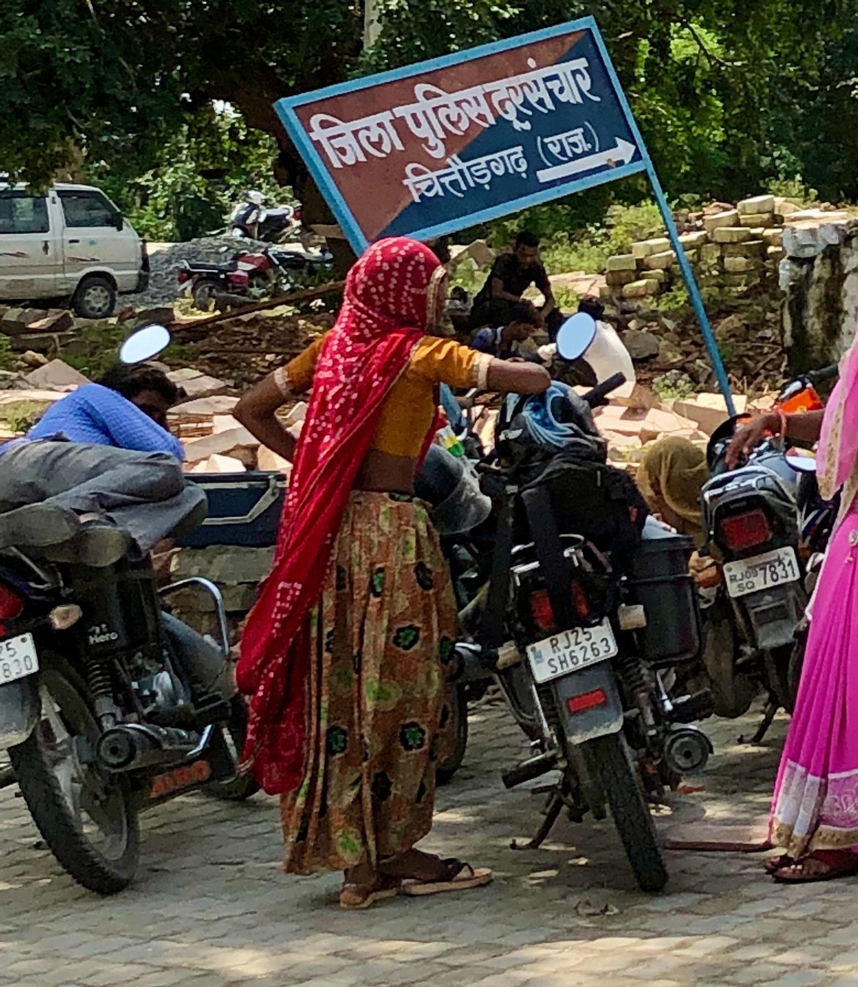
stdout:
POLYGON ((79 316, 106 319, 117 294, 148 280, 144 241, 103 191, 0 184, 0 300, 70 297, 79 316))

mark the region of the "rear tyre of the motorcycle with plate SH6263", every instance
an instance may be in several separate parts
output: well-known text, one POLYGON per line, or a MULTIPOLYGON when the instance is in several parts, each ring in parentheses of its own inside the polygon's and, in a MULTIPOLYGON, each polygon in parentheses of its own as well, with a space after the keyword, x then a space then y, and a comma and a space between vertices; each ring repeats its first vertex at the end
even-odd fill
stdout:
POLYGON ((668 882, 668 871, 625 737, 622 733, 596 737, 584 744, 584 750, 608 799, 638 887, 650 893, 661 891, 668 882))

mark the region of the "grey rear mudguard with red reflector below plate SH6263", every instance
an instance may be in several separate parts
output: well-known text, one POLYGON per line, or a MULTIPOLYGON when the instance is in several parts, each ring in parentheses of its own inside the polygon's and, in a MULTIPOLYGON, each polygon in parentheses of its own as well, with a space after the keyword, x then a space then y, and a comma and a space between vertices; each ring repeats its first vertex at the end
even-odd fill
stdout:
POLYGON ((566 737, 583 743, 622 729, 622 702, 609 661, 600 661, 551 683, 566 737))

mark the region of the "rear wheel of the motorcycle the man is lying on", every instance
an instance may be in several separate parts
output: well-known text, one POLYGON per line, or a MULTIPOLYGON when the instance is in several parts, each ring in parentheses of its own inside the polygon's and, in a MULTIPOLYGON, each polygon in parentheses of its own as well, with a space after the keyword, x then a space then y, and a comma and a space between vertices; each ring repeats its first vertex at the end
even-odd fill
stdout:
POLYGON ((86 686, 64 661, 39 673, 41 715, 9 749, 21 793, 53 856, 84 887, 115 894, 137 870, 140 830, 125 779, 102 771, 86 686))

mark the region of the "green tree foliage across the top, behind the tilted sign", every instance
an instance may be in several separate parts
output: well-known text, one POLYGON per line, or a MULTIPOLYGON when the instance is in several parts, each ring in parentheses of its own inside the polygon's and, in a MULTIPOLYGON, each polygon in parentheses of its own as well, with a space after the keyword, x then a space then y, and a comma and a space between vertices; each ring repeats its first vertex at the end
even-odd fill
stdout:
MULTIPOLYGON (((381 37, 362 52, 360 0, 0 0, 0 167, 43 182, 84 155, 91 169, 104 162, 113 176, 160 181, 224 101, 275 136, 279 180, 304 197, 277 98, 593 14, 672 195, 728 197, 796 175, 824 193, 832 173, 858 196, 858 127, 843 128, 858 114, 856 0, 380 0, 380 9, 381 37)), ((640 198, 643 187, 623 194, 640 198)))

